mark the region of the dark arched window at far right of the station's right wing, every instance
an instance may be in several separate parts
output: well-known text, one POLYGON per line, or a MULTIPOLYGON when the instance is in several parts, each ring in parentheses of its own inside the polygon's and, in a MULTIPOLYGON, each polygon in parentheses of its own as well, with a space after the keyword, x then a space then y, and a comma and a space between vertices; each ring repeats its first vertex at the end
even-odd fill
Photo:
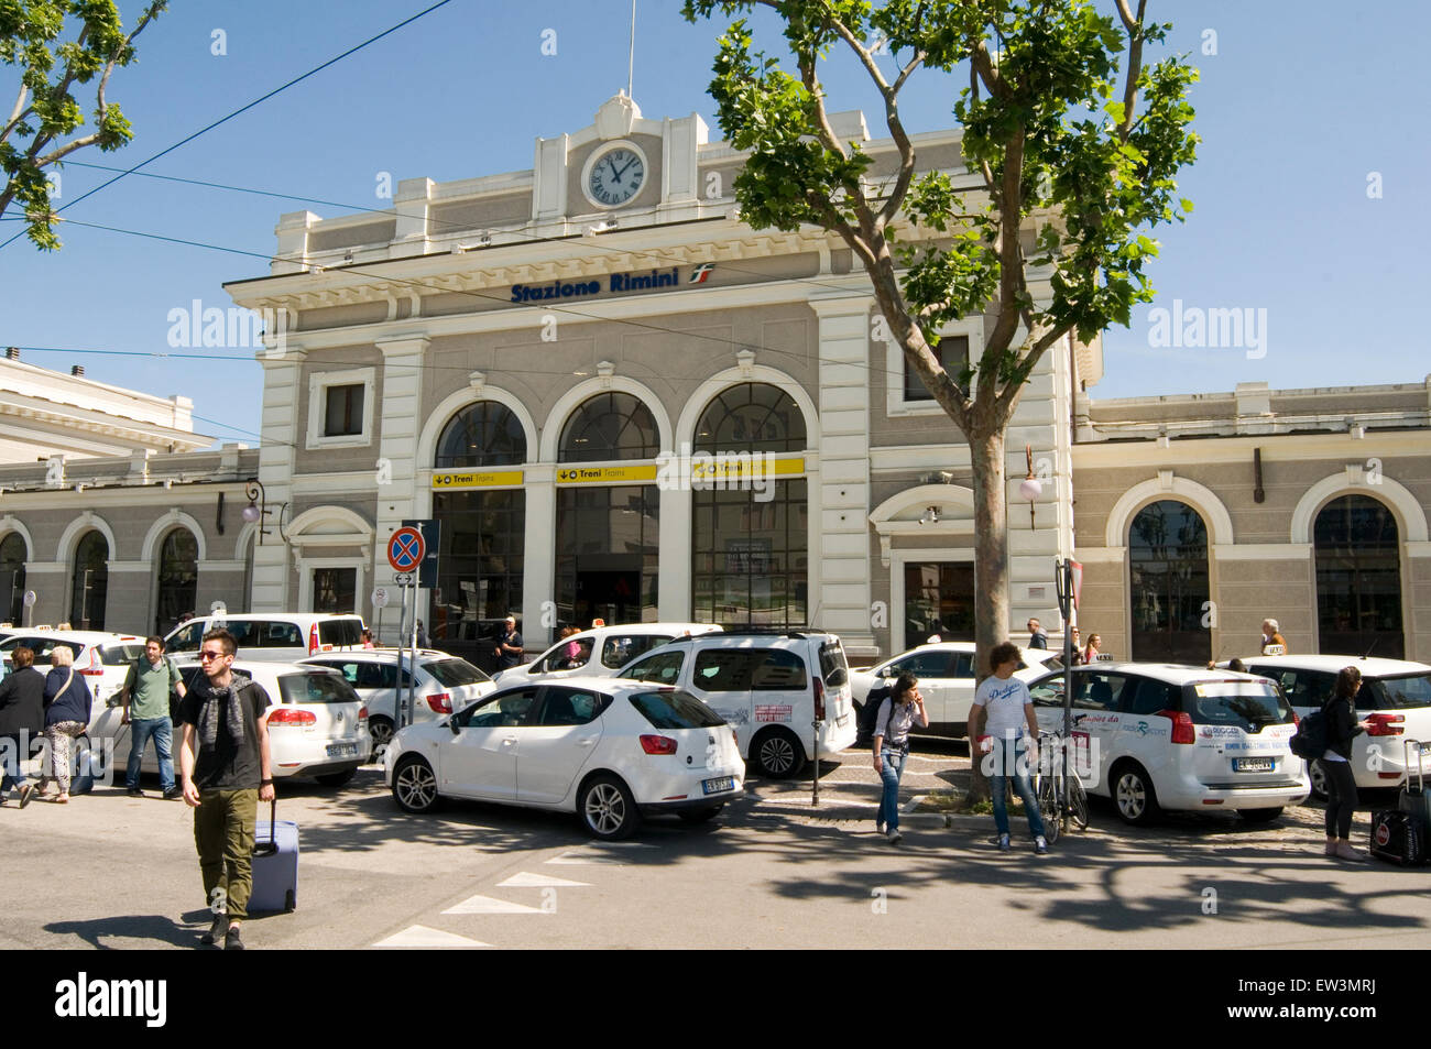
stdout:
POLYGON ((1391 509, 1369 495, 1332 499, 1317 515, 1312 544, 1318 648, 1404 658, 1401 537, 1391 509))

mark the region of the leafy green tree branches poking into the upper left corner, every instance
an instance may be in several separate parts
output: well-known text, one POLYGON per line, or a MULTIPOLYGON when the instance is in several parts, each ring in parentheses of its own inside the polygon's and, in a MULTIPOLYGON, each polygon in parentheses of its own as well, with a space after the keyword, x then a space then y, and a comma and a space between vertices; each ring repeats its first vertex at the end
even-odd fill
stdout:
POLYGON ((6 177, 0 215, 19 205, 39 248, 60 246, 44 169, 63 167, 62 160, 77 149, 99 146, 109 153, 133 137, 129 120, 104 92, 114 67, 135 60, 135 37, 167 6, 166 0, 150 3, 133 31, 124 33, 113 0, 0 0, 0 62, 20 72, 14 107, 0 130, 6 177), (74 39, 57 43, 67 29, 74 39), (74 87, 96 77, 93 130, 74 135, 84 123, 74 87))

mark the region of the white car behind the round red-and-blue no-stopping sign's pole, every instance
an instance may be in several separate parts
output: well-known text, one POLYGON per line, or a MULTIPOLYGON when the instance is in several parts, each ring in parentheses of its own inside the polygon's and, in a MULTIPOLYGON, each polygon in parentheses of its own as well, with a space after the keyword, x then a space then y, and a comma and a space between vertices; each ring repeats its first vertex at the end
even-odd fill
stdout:
POLYGON ((392 740, 398 723, 399 664, 401 698, 406 700, 412 684, 412 710, 408 720, 435 721, 461 710, 472 700, 487 696, 497 685, 492 678, 456 655, 434 648, 419 648, 416 674, 401 648, 361 648, 352 653, 329 653, 299 660, 301 665, 328 667, 343 675, 368 706, 368 731, 373 747, 392 740))

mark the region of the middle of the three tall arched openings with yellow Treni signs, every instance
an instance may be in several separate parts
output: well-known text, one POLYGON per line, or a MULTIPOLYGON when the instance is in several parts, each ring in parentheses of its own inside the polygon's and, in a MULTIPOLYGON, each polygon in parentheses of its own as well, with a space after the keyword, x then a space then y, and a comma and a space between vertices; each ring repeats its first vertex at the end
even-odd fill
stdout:
POLYGON ((651 409, 631 394, 597 394, 567 418, 557 448, 558 625, 654 623, 661 501, 654 484, 661 449, 651 409), (650 464, 570 467, 577 464, 650 464), (612 484, 615 481, 615 484, 612 484))

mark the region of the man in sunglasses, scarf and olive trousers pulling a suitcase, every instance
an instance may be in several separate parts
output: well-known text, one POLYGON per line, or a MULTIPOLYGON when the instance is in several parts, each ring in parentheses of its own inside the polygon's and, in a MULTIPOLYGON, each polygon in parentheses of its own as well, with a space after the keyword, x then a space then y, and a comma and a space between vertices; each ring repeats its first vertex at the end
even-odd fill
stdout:
POLYGON ((259 800, 273 800, 269 748, 269 696, 233 674, 238 644, 226 630, 210 630, 199 645, 200 678, 180 706, 183 746, 179 770, 183 799, 193 813, 193 840, 213 924, 205 943, 223 937, 225 950, 243 950, 239 924, 253 889, 253 824, 259 800))

